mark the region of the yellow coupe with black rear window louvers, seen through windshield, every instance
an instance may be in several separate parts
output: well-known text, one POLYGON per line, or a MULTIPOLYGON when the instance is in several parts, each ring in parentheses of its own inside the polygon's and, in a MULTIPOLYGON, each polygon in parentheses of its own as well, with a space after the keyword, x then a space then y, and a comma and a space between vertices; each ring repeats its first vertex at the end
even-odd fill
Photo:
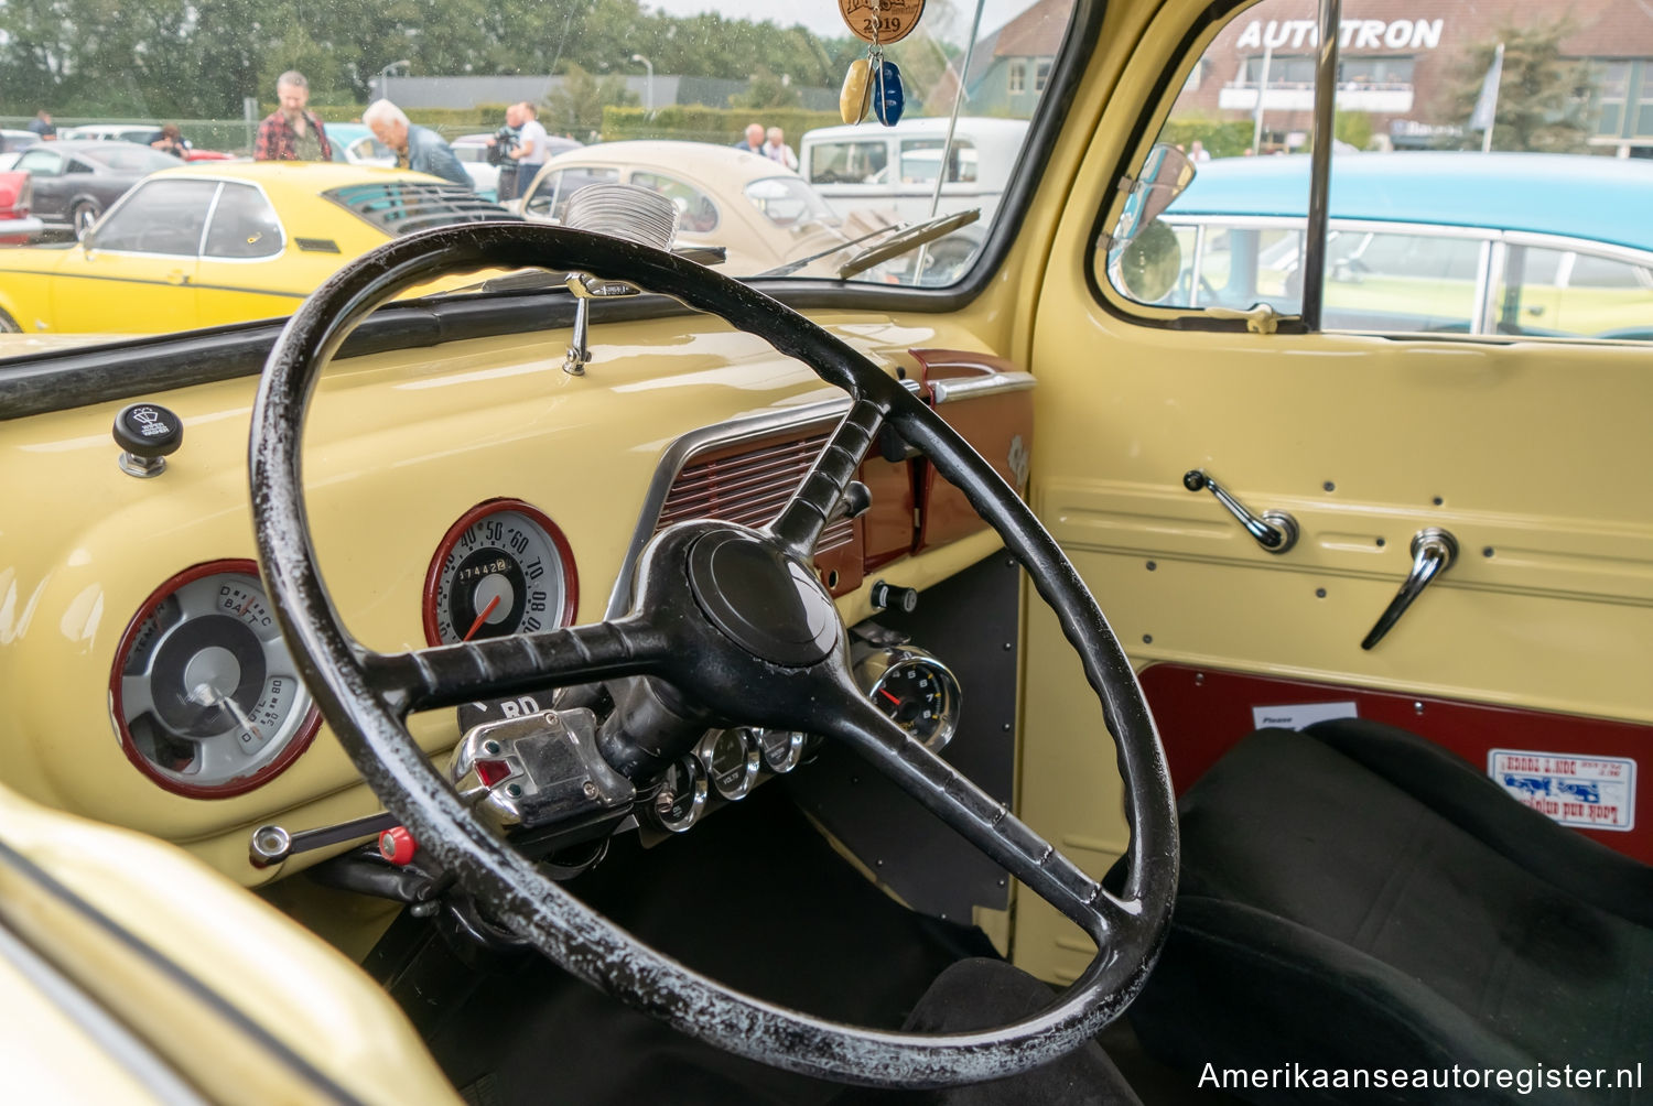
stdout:
POLYGON ((289 314, 395 235, 511 218, 466 188, 367 165, 152 174, 81 241, 0 250, 0 331, 162 334, 289 314))

